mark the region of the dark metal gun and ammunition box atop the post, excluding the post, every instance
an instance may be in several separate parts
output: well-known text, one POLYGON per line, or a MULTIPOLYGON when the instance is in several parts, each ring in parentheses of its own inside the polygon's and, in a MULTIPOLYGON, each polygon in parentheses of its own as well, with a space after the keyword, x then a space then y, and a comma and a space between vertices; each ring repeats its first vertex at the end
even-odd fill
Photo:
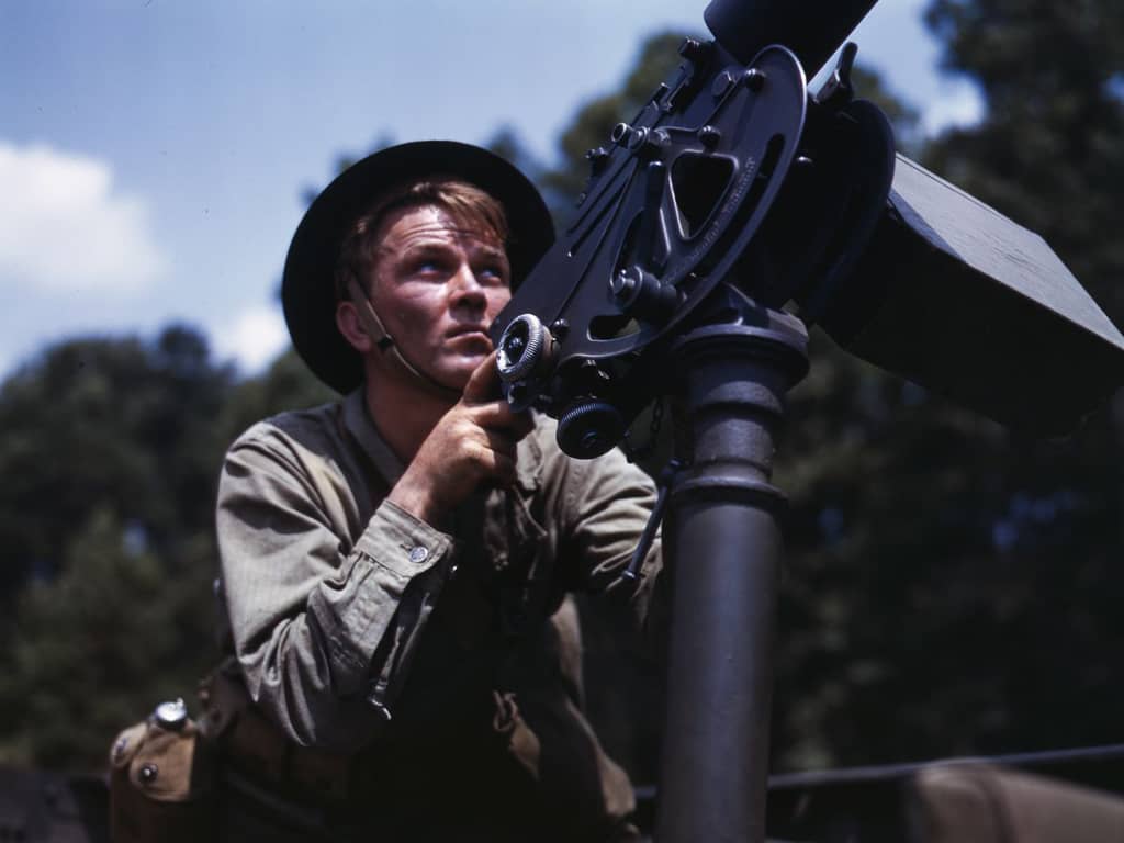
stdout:
POLYGON ((806 69, 873 4, 809 25, 715 0, 715 40, 686 39, 588 153, 573 219, 492 328, 508 400, 558 418, 564 451, 620 441, 719 281, 1030 435, 1069 432, 1124 383, 1124 337, 1040 237, 895 155, 852 99, 853 47, 809 96, 806 69))

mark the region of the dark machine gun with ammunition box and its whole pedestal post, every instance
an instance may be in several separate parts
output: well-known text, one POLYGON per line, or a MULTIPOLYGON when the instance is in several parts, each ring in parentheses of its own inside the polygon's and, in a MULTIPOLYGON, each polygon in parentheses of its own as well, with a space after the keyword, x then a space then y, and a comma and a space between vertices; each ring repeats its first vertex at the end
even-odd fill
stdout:
POLYGON ((714 40, 685 40, 679 71, 589 152, 574 218, 492 328, 508 401, 556 418, 573 456, 664 393, 683 420, 661 496, 661 843, 764 834, 769 481, 808 327, 1031 435, 1072 429, 1124 381, 1124 337, 1040 237, 895 154, 853 97, 853 46, 809 94, 876 2, 713 0, 714 40))

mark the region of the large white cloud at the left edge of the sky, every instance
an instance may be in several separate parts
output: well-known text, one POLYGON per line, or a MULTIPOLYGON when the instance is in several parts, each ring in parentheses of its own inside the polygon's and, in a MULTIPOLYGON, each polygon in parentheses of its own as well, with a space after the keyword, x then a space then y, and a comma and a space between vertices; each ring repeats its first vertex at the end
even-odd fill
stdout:
POLYGON ((147 207, 103 161, 0 142, 0 283, 134 292, 164 272, 147 207))

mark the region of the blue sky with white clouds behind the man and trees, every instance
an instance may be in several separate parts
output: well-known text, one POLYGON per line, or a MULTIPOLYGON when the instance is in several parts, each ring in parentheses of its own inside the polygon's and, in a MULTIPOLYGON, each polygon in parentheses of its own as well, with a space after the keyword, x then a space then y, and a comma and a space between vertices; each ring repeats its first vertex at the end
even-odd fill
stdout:
MULTIPOLYGON (((881 0, 860 61, 927 129, 970 121, 924 0, 881 0)), ((303 209, 378 138, 486 142, 544 161, 641 39, 706 0, 0 0, 0 377, 76 334, 202 328, 261 369, 303 209)))

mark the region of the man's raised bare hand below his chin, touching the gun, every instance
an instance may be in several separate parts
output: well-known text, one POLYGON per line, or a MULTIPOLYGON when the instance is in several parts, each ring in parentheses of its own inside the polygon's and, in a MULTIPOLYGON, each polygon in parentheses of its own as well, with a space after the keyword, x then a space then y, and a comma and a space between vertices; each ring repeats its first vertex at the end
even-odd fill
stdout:
POLYGON ((480 486, 515 482, 516 445, 533 428, 531 414, 514 413, 500 393, 492 353, 422 443, 388 499, 438 525, 480 486))

